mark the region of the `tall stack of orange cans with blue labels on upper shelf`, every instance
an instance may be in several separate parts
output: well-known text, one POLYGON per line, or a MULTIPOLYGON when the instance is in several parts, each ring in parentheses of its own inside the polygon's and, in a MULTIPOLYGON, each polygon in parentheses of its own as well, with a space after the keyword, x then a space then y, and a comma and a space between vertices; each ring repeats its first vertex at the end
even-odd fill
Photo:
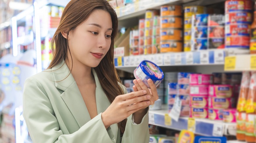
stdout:
POLYGON ((182 6, 162 6, 160 19, 160 52, 182 52, 182 6))

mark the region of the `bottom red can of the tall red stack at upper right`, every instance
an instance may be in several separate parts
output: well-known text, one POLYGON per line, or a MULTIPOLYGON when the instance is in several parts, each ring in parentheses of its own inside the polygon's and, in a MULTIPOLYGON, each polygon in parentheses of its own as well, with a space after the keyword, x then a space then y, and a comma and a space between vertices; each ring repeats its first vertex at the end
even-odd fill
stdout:
POLYGON ((249 36, 226 36, 225 48, 246 48, 250 47, 249 36))

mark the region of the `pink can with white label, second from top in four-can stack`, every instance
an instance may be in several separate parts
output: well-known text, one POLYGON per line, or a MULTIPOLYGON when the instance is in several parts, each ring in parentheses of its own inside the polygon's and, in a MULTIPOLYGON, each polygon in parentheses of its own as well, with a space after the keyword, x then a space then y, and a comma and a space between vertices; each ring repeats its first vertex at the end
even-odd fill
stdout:
POLYGON ((190 96, 208 96, 208 85, 190 85, 190 96))

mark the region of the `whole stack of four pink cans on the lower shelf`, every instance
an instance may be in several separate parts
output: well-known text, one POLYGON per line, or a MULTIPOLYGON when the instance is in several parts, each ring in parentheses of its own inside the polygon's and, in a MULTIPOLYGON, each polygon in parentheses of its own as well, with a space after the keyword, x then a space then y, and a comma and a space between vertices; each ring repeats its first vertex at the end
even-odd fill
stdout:
POLYGON ((208 118, 208 88, 212 83, 211 74, 190 75, 190 117, 208 118))

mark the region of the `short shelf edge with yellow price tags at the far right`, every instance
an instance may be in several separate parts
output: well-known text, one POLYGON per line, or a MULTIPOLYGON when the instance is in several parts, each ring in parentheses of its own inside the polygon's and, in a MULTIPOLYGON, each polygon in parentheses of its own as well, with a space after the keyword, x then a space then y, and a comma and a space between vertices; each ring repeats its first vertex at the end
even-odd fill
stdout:
POLYGON ((256 55, 236 55, 225 57, 225 71, 255 71, 256 55))

